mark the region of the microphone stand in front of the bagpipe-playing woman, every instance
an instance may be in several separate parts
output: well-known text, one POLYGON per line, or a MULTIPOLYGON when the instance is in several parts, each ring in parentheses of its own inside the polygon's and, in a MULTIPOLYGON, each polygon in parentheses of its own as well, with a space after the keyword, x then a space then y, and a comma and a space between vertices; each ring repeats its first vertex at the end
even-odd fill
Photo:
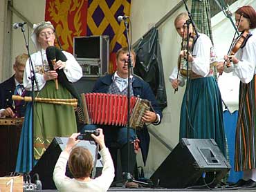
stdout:
POLYGON ((32 118, 32 124, 31 124, 31 134, 32 134, 32 137, 31 137, 31 140, 32 140, 32 158, 31 158, 31 161, 32 161, 32 168, 34 166, 34 147, 33 147, 33 144, 34 144, 34 104, 35 104, 35 97, 34 97, 34 93, 35 93, 35 90, 34 90, 34 84, 35 86, 37 87, 37 90, 39 90, 39 86, 38 86, 38 83, 37 83, 37 79, 35 77, 35 69, 34 69, 34 66, 33 66, 33 62, 32 62, 32 59, 30 57, 30 52, 29 52, 29 48, 28 48, 28 41, 26 39, 26 36, 25 36, 25 29, 24 29, 24 26, 21 26, 21 32, 24 36, 24 40, 25 40, 25 44, 26 44, 26 49, 27 49, 27 52, 28 52, 28 58, 29 58, 29 66, 30 66, 30 81, 31 81, 31 98, 32 98, 32 103, 31 103, 31 118, 32 118))

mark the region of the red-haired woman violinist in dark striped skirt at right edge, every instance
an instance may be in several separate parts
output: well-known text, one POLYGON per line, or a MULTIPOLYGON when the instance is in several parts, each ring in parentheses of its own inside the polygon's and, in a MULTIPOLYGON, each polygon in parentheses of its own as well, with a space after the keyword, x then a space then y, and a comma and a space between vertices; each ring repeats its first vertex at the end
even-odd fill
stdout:
POLYGON ((243 179, 235 186, 256 186, 256 12, 251 6, 243 6, 235 12, 239 32, 246 32, 242 46, 234 55, 225 55, 228 65, 224 72, 240 79, 239 115, 235 138, 235 171, 244 171, 243 179))

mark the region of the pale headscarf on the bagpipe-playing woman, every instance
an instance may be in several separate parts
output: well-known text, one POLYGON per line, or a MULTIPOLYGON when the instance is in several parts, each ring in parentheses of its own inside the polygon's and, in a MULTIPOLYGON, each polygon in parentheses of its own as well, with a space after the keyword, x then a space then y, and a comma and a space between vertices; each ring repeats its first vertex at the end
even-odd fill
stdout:
POLYGON ((31 35, 31 39, 35 45, 35 49, 41 50, 41 46, 37 41, 37 37, 40 31, 42 31, 45 28, 51 28, 54 31, 54 27, 50 21, 42 21, 41 23, 37 23, 33 25, 33 31, 31 35))

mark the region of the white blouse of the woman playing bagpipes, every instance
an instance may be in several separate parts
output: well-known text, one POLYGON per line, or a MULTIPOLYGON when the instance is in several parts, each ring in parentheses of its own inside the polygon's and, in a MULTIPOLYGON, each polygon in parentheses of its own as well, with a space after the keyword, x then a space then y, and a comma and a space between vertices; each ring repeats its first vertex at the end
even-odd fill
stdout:
MULTIPOLYGON (((82 77, 82 68, 81 66, 77 63, 75 60, 75 57, 71 55, 71 53, 62 51, 64 55, 66 56, 66 66, 63 69, 66 77, 68 78, 68 81, 71 81, 72 83, 75 81, 78 81, 82 77)), ((46 84, 46 80, 44 80, 44 73, 43 69, 45 71, 50 70, 47 57, 46 57, 46 50, 42 49, 39 50, 33 55, 31 55, 31 60, 35 69, 35 77, 37 79, 37 83, 39 86, 39 90, 41 90, 44 85, 46 84)), ((26 62, 26 68, 24 72, 24 87, 26 90, 31 90, 31 81, 30 81, 30 64, 29 64, 29 59, 26 62)), ((36 85, 34 86, 35 90, 37 90, 36 85)))

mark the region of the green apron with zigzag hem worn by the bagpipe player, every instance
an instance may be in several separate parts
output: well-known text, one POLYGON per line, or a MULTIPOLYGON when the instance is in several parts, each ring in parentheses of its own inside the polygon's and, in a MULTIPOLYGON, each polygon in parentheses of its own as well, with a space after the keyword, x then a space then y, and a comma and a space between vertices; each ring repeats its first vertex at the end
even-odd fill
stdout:
MULTIPOLYGON (((39 93, 35 93, 35 96, 51 99, 72 98, 72 95, 61 84, 56 90, 54 81, 47 81, 44 88, 39 93)), ((73 106, 35 102, 33 135, 36 160, 44 154, 54 137, 69 137, 72 133, 77 133, 73 106)))

